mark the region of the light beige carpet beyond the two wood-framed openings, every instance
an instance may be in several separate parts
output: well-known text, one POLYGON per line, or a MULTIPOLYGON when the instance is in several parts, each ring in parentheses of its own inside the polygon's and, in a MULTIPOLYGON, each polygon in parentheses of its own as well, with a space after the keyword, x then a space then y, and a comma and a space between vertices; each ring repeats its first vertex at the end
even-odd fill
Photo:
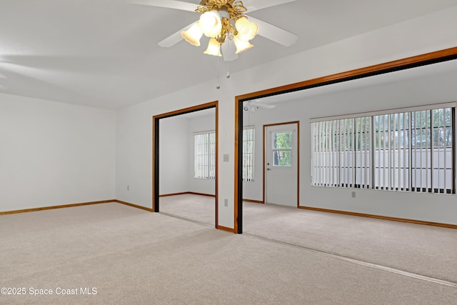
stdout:
MULTIPOLYGON (((212 206, 188 194, 167 197, 161 210, 205 222, 212 206)), ((244 202, 243 233, 457 282, 456 229, 244 202)))

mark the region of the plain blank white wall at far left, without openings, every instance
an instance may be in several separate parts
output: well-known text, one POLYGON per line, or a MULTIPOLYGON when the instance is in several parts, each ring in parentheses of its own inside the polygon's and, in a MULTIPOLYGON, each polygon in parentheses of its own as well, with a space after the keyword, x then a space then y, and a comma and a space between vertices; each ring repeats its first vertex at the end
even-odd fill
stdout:
POLYGON ((115 199, 114 111, 0 94, 0 211, 115 199))

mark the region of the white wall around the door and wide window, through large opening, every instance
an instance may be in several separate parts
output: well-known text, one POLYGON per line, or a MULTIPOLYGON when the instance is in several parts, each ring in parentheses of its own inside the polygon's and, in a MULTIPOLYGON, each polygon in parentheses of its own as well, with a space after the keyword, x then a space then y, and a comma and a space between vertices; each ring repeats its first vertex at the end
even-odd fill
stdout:
MULTIPOLYGON (((446 66, 445 62, 439 64, 446 66)), ((453 63, 453 66, 456 66, 453 63)), ((427 68, 427 67, 423 67, 427 68)), ((417 69, 423 69, 419 67, 417 69)), ((411 71, 411 70, 410 70, 411 71)), ((410 72, 408 71, 408 72, 410 72)), ((402 71, 396 72, 396 74, 402 71)), ((385 75, 386 76, 386 75, 385 75)), ((385 79, 385 76, 381 76, 385 79)), ((379 76, 375 76, 378 77, 379 76)), ((391 216, 446 224, 456 223, 457 196, 447 194, 407 194, 394 191, 364 189, 337 189, 311 186, 311 129, 310 119, 321 116, 379 111, 399 107, 440 104, 457 101, 457 70, 421 78, 395 81, 357 89, 343 89, 320 94, 305 94, 301 99, 276 103, 274 109, 245 112, 244 125, 256 126, 256 173, 262 171, 262 125, 284 121, 301 122, 301 206, 352 211, 365 214, 391 216), (356 198, 351 197, 356 191, 356 198)), ((353 81, 358 82, 358 80, 353 81)), ((345 85, 340 84, 338 86, 345 85)), ((284 97, 287 96, 284 95, 284 97)), ((283 98, 284 98, 283 97, 283 98)), ((280 101, 281 96, 275 96, 280 101)), ((261 200, 262 180, 243 184, 243 198, 261 200)))

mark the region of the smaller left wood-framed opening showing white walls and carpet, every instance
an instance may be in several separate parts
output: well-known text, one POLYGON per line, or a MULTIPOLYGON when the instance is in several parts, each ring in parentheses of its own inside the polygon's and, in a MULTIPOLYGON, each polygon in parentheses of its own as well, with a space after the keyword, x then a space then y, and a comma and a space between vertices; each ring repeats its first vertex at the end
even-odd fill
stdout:
POLYGON ((172 202, 175 207, 170 211, 174 211, 175 216, 211 224, 216 228, 219 226, 217 106, 218 102, 214 101, 153 117, 153 210, 155 212, 162 211, 161 201, 163 204, 172 202), (212 120, 211 139, 214 139, 209 143, 212 151, 211 179, 206 181, 202 179, 201 182, 207 182, 203 183, 204 186, 191 181, 193 180, 191 177, 194 177, 194 134, 198 133, 192 132, 194 128, 190 128, 191 125, 194 126, 193 121, 202 121, 203 116, 207 116, 207 120, 212 120), (200 214, 199 209, 205 208, 195 204, 196 202, 206 206, 206 214, 212 211, 214 221, 209 219, 202 221, 195 217, 200 214), (185 209, 180 209, 179 206, 183 207, 183 204, 185 209))

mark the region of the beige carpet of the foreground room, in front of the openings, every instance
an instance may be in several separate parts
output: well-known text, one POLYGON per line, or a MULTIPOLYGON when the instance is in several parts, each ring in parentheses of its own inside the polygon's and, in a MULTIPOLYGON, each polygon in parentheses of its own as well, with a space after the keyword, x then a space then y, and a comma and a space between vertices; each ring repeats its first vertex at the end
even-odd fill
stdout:
POLYGON ((115 203, 3 215, 0 231, 0 287, 25 292, 0 294, 0 304, 456 304, 457 299, 457 285, 115 203), (53 294, 40 294, 43 289, 53 294))

